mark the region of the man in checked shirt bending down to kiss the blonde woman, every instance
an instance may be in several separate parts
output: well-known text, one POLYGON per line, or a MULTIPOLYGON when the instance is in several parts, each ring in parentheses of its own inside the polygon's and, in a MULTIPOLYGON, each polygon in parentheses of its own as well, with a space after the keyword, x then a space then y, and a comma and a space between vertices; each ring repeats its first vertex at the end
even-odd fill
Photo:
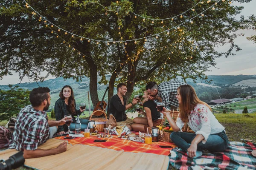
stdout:
POLYGON ((186 85, 184 82, 179 81, 169 81, 162 82, 160 85, 157 85, 156 82, 148 82, 146 85, 146 91, 148 91, 148 99, 154 100, 155 103, 163 102, 164 107, 172 105, 179 107, 179 102, 176 99, 177 88, 180 85, 186 85))

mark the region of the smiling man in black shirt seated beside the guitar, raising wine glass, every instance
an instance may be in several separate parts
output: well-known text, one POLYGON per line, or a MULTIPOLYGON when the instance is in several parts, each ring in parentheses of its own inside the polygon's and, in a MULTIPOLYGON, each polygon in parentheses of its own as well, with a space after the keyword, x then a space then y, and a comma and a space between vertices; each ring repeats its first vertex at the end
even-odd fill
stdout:
POLYGON ((126 125, 130 130, 133 120, 127 118, 125 111, 135 105, 140 99, 133 99, 131 103, 126 105, 124 98, 127 92, 126 84, 119 83, 117 85, 117 94, 110 99, 109 113, 112 113, 116 119, 116 125, 126 125))

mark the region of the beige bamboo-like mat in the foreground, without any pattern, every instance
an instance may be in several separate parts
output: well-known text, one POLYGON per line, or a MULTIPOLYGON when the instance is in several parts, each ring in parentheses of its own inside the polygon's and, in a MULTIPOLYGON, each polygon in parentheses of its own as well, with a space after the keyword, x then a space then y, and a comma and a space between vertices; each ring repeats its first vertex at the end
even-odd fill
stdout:
MULTIPOLYGON (((57 147, 62 140, 49 139, 40 149, 57 147)), ((0 151, 0 158, 6 160, 17 153, 15 149, 0 151)), ((40 170, 167 170, 169 157, 151 153, 128 153, 82 144, 67 145, 67 151, 41 158, 26 159, 25 164, 40 170)))

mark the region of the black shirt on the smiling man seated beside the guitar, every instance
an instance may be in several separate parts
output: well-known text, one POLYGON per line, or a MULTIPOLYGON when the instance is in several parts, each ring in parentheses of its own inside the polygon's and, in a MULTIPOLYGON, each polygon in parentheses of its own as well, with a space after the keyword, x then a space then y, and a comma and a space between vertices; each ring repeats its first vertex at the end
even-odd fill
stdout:
POLYGON ((119 96, 114 95, 110 99, 110 104, 109 104, 109 113, 112 113, 113 116, 116 119, 116 122, 122 122, 127 119, 127 116, 125 114, 125 105, 126 105, 126 100, 124 99, 124 105, 122 105, 121 99, 119 96))

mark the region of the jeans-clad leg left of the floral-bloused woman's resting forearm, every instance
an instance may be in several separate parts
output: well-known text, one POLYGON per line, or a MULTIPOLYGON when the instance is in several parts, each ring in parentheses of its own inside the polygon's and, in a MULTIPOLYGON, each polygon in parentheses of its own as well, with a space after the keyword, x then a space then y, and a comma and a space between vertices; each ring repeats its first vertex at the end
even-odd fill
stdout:
POLYGON ((172 132, 170 138, 178 147, 187 152, 189 144, 191 144, 195 136, 195 133, 172 132))

